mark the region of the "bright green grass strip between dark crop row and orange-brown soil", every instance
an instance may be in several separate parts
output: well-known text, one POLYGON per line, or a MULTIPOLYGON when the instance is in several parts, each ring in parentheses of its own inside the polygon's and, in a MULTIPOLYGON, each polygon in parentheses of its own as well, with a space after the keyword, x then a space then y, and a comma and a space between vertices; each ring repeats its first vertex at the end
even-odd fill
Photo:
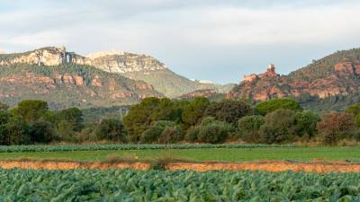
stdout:
POLYGON ((84 162, 99 162, 109 156, 155 159, 162 157, 181 158, 195 161, 244 162, 257 160, 292 160, 360 162, 360 147, 268 147, 268 148, 202 148, 166 150, 125 150, 125 151, 73 151, 73 152, 31 152, 1 153, 0 159, 59 159, 84 162))

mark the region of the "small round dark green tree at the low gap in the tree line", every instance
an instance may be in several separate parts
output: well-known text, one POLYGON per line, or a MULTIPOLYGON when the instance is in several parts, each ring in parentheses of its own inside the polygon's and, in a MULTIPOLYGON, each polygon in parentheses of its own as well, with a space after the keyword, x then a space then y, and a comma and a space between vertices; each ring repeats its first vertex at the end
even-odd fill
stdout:
POLYGON ((96 136, 100 140, 111 140, 121 143, 128 142, 127 132, 118 119, 102 119, 96 131, 96 136))

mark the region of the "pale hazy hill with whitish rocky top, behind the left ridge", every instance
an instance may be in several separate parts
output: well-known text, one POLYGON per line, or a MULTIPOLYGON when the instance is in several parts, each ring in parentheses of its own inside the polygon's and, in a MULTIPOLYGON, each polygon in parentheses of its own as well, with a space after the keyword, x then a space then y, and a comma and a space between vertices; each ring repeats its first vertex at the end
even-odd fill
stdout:
POLYGON ((175 98, 188 92, 213 89, 216 92, 229 92, 234 84, 220 85, 192 81, 177 75, 154 57, 121 51, 106 51, 89 56, 92 65, 106 72, 118 73, 130 79, 142 80, 154 86, 158 92, 175 98))

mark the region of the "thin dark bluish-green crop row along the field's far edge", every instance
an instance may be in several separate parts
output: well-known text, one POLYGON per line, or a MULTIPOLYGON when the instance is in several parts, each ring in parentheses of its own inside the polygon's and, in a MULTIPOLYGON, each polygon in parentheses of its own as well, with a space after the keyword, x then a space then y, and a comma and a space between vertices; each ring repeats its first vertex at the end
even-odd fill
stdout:
POLYGON ((291 147, 295 145, 251 145, 251 144, 175 144, 175 145, 136 145, 136 144, 102 144, 102 145, 1 145, 0 153, 23 152, 59 152, 59 151, 96 151, 96 150, 145 150, 145 149, 201 149, 201 148, 256 148, 256 147, 291 147))

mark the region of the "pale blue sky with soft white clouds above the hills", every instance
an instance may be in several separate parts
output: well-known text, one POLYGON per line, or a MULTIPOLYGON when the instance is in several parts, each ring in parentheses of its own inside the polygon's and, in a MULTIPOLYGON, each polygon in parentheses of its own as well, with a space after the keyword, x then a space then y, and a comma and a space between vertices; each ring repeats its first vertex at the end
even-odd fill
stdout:
POLYGON ((0 50, 65 46, 156 57, 175 73, 238 83, 360 47, 358 0, 0 0, 0 50))

